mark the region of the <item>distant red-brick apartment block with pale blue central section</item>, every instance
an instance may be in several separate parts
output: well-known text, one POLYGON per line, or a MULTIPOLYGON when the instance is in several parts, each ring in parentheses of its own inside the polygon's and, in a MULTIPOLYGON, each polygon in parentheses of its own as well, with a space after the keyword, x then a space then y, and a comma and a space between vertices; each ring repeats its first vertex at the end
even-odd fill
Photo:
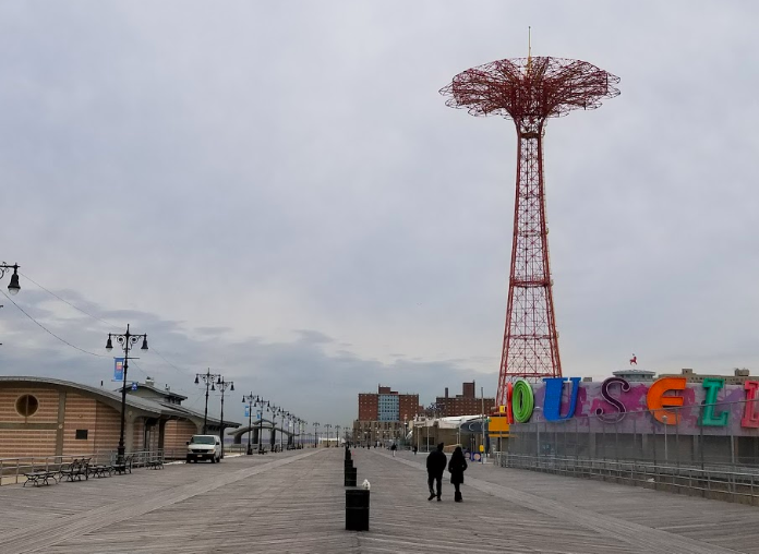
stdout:
POLYGON ((359 419, 353 422, 353 441, 363 444, 400 441, 408 422, 421 413, 419 395, 401 395, 380 385, 376 393, 359 393, 359 419))

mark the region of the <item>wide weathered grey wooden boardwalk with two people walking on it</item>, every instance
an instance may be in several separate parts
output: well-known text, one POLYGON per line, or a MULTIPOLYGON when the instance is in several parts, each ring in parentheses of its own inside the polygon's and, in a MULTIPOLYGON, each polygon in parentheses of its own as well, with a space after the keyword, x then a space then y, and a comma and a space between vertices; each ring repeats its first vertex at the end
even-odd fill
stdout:
POLYGON ((759 509, 472 465, 427 502, 424 455, 354 449, 371 530, 345 531, 342 450, 0 487, 0 553, 757 553, 759 509))

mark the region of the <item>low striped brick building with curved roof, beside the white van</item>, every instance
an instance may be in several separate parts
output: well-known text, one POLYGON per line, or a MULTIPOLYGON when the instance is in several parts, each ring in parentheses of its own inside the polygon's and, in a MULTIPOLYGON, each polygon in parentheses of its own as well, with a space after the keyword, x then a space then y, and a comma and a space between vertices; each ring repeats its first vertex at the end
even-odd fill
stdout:
MULTIPOLYGON (((203 414, 182 407, 183 399, 149 381, 130 390, 126 450, 182 454, 186 441, 203 431, 203 414)), ((219 432, 217 419, 208 423, 208 433, 219 432)), ((225 421, 225 427, 239 425, 225 421)), ((47 377, 0 377, 0 458, 116 450, 120 431, 120 393, 47 377)))

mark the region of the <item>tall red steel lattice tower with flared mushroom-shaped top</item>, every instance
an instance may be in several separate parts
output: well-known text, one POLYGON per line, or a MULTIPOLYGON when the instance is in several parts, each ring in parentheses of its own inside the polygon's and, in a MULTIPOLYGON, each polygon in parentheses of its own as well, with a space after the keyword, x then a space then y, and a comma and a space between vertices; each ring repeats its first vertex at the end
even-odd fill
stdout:
POLYGON ((508 280, 506 330, 497 406, 506 404, 508 383, 562 375, 558 334, 549 264, 543 173, 547 118, 594 109, 619 94, 619 77, 579 60, 518 58, 498 60, 456 75, 441 89, 447 106, 472 116, 497 115, 517 128, 517 194, 508 280))

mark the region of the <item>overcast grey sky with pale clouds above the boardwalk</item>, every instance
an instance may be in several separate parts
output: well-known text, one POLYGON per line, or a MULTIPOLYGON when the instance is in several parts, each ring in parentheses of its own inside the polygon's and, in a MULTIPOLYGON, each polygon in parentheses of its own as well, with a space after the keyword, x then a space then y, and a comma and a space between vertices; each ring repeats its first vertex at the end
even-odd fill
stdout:
POLYGON ((14 300, 99 356, 0 297, 0 374, 112 386, 131 323, 152 350, 130 377, 202 408, 212 368, 238 419, 251 390, 337 424, 380 383, 493 396, 516 136, 438 89, 526 56, 528 25, 533 55, 622 79, 546 132, 564 374, 634 352, 759 373, 757 21, 748 0, 1 1, 0 260, 109 324, 22 277, 14 300))

